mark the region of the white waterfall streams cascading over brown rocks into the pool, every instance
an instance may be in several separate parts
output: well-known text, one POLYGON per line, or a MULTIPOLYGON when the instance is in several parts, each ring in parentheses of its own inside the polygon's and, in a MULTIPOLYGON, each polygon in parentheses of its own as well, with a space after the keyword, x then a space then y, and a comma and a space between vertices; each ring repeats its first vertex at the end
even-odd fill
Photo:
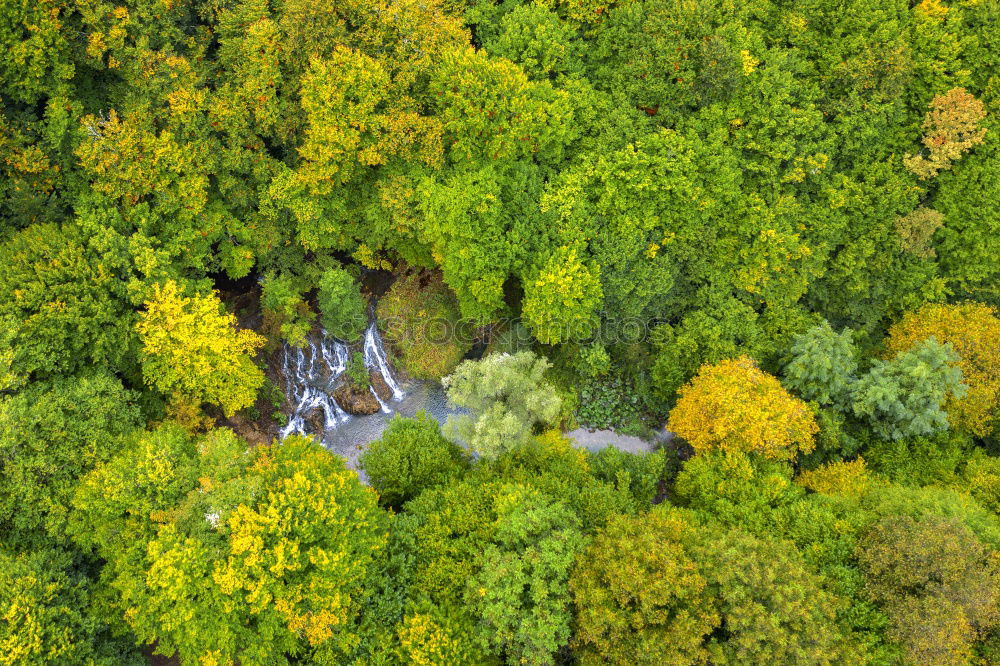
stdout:
MULTIPOLYGON (((327 430, 334 429, 352 418, 333 399, 333 392, 339 384, 340 376, 347 370, 349 358, 347 345, 327 336, 326 331, 322 331, 320 336, 310 336, 307 341, 308 345, 305 347, 285 345, 283 351, 285 393, 292 404, 292 413, 288 417, 288 423, 279 432, 281 439, 291 434, 306 434, 306 416, 317 408, 323 410, 327 430)), ((364 359, 365 367, 381 373, 386 386, 392 391, 389 402, 400 400, 404 394, 389 369, 374 316, 371 317, 371 323, 365 330, 364 359)), ((370 390, 378 400, 382 412, 392 413, 389 404, 378 392, 374 388, 370 390)), ((323 433, 314 434, 323 435, 323 433)))

